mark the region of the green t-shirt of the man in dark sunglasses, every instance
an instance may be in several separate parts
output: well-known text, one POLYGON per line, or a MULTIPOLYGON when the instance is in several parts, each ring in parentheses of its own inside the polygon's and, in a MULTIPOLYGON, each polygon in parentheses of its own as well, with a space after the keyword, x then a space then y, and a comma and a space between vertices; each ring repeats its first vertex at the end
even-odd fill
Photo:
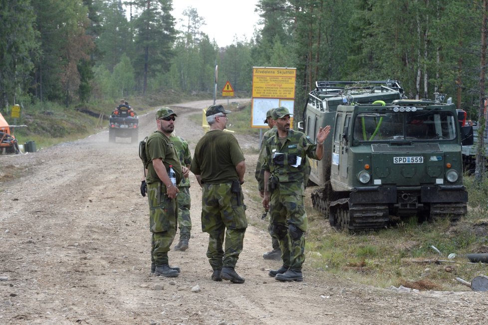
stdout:
POLYGON ((166 172, 169 171, 170 165, 176 173, 176 183, 180 183, 183 178, 183 171, 181 170, 180 159, 176 152, 175 146, 170 139, 161 131, 154 131, 149 135, 146 141, 146 155, 150 160, 147 166, 146 182, 148 184, 161 182, 153 167, 153 159, 161 158, 166 167, 166 172))

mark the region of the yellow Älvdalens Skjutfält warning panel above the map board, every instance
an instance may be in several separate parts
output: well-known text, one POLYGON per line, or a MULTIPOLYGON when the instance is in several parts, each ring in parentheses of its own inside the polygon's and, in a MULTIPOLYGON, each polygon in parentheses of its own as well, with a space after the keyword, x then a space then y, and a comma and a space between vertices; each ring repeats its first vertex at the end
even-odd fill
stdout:
POLYGON ((296 68, 252 68, 253 98, 295 98, 296 68))

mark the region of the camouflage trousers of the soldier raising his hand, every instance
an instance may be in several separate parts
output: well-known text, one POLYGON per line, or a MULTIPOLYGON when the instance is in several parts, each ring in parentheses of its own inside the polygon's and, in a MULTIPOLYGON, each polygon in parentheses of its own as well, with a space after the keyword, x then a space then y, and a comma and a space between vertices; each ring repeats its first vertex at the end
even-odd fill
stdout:
POLYGON ((308 220, 303 196, 279 193, 276 189, 270 199, 272 232, 278 238, 283 265, 301 270, 305 262, 305 236, 308 220))

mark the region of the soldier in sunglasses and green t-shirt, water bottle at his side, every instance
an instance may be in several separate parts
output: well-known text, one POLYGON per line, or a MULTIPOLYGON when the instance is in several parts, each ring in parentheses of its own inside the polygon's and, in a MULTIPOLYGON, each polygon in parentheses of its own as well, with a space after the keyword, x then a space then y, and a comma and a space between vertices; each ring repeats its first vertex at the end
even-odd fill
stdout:
POLYGON ((149 159, 146 183, 149 200, 149 224, 151 237, 151 272, 164 277, 178 277, 180 268, 170 267, 168 251, 175 239, 178 219, 178 188, 168 176, 170 165, 180 183, 183 172, 178 153, 170 140, 175 129, 176 113, 163 107, 156 112, 157 130, 146 141, 149 159))

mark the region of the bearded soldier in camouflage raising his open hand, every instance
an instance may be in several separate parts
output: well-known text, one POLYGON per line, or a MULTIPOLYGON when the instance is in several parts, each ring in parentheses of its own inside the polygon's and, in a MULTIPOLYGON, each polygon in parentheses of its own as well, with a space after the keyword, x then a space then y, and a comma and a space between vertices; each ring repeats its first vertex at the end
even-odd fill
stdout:
POLYGON ((317 144, 299 131, 290 129, 290 113, 285 107, 272 112, 276 133, 264 145, 264 209, 270 209, 273 232, 282 251, 283 265, 269 271, 279 281, 303 281, 301 268, 305 261, 307 215, 303 205, 308 159, 320 160, 323 142, 330 126, 320 128, 317 144))

